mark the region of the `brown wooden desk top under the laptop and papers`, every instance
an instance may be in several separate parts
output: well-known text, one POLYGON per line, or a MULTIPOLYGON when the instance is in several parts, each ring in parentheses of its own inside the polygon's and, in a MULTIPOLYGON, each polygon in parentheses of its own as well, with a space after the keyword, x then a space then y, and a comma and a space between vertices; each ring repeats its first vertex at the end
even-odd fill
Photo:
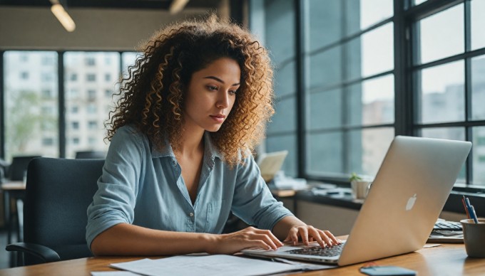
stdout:
MULTIPOLYGON (((1 275, 90 275, 92 271, 113 271, 108 267, 113 262, 139 260, 141 257, 94 257, 43 265, 31 265, 0 270, 1 275)), ((377 265, 397 265, 417 270, 424 275, 485 275, 485 258, 467 258, 463 244, 444 244, 434 248, 423 248, 414 253, 375 261, 377 265)), ((316 275, 361 275, 359 267, 365 263, 303 273, 316 275)))

